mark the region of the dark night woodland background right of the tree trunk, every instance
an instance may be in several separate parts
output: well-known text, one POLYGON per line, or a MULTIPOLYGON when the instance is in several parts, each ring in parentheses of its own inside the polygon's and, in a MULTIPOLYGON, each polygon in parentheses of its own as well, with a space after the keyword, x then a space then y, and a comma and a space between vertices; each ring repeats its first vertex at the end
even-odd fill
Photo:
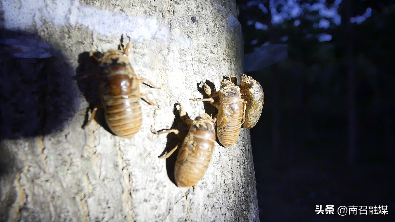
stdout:
MULTIPOLYGON (((287 1, 271 2, 289 16, 287 1)), ((339 1, 296 1, 301 15, 272 24, 271 11, 261 10, 269 0, 237 1, 245 54, 288 44, 286 59, 246 73, 265 92, 250 130, 260 220, 395 221, 394 1, 342 0, 339 25, 305 7, 319 2, 339 1), (350 21, 367 8, 365 21, 350 21), (321 19, 328 28, 317 27, 321 19), (319 41, 323 33, 332 39, 319 41), (316 215, 316 205, 335 205, 335 214, 316 215), (339 216, 342 205, 384 205, 388 214, 339 216)))

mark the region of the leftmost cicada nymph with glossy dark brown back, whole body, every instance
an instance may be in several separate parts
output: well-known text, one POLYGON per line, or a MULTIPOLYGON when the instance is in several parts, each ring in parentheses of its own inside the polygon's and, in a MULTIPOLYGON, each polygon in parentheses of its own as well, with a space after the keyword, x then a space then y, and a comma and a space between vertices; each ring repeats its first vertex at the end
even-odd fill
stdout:
MULTIPOLYGON (((141 127, 142 115, 139 83, 147 82, 147 79, 138 79, 128 59, 131 51, 130 37, 126 48, 122 50, 110 49, 100 56, 91 51, 90 56, 98 61, 101 73, 99 75, 99 92, 102 104, 92 111, 90 120, 93 119, 96 110, 104 108, 107 125, 111 131, 120 137, 131 139, 141 127)), ((152 83, 150 85, 155 87, 152 83)), ((147 96, 147 103, 154 105, 147 96)), ((88 121, 88 123, 90 122, 88 121)), ((88 125, 88 124, 87 124, 88 125)))

